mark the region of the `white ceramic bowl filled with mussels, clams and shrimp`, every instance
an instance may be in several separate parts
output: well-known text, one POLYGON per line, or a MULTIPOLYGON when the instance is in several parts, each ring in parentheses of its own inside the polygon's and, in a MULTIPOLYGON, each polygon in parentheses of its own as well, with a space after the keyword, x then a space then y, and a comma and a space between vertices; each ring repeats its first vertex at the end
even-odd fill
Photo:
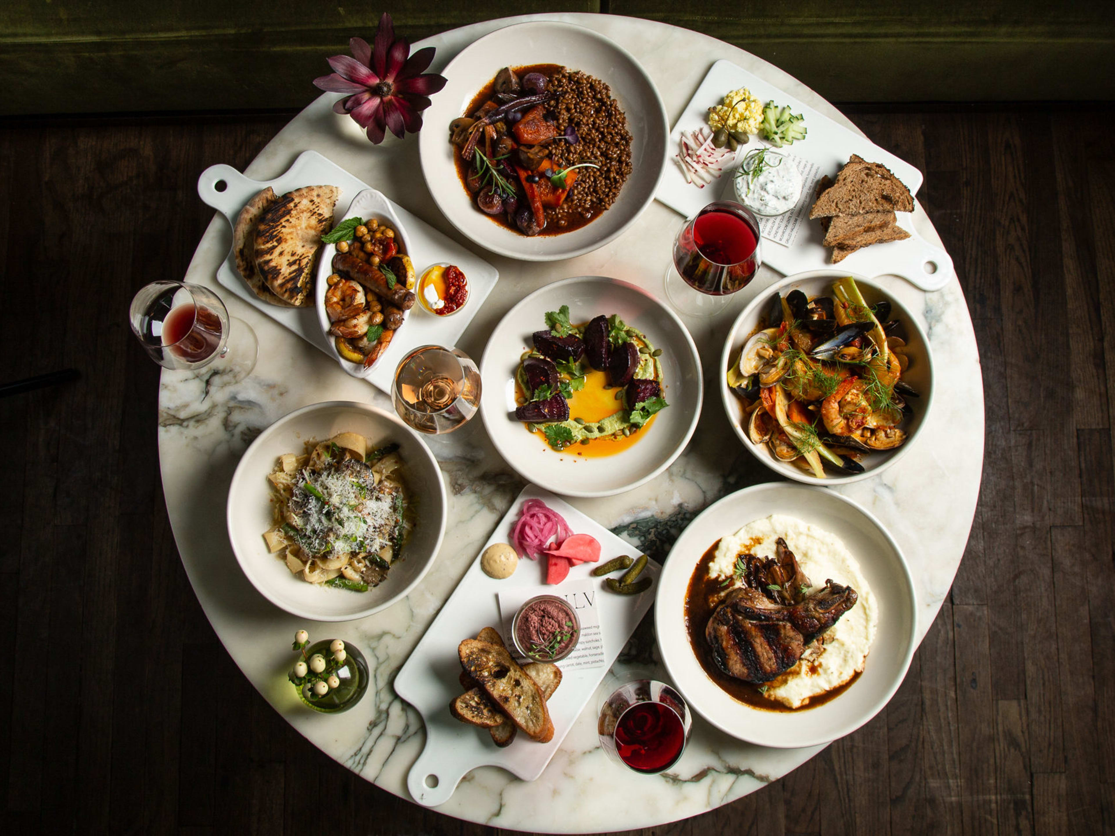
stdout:
POLYGON ((731 324, 728 339, 724 342, 724 351, 720 354, 719 379, 720 399, 724 404, 724 410, 728 416, 728 422, 731 424, 731 428, 736 431, 744 447, 750 450, 752 455, 759 461, 775 473, 782 474, 795 482, 825 486, 846 485, 851 482, 878 476, 882 470, 902 458, 917 443, 918 430, 924 425, 930 406, 933 402, 933 354, 930 351, 929 340, 925 338, 925 332, 922 330, 918 318, 905 305, 899 302, 898 299, 888 293, 883 285, 866 276, 850 273, 846 270, 826 268, 824 270, 811 270, 806 273, 787 276, 764 291, 763 295, 752 300, 752 303, 740 312, 736 321, 731 324), (747 437, 747 425, 744 420, 743 405, 728 388, 728 369, 733 361, 738 359, 744 343, 758 330, 760 321, 765 321, 765 317, 773 304, 775 293, 786 295, 792 290, 801 290, 809 299, 818 295, 832 295, 833 281, 847 275, 855 279, 855 283, 867 304, 875 304, 884 299, 891 303, 891 319, 898 319, 900 322, 899 329, 894 334, 906 341, 906 351, 910 358, 910 366, 902 375, 902 379, 917 389, 920 396, 909 399, 909 404, 913 407, 913 417, 908 418, 902 424, 902 429, 908 432, 908 438, 901 447, 893 453, 880 451, 866 454, 863 461, 860 463, 863 465, 863 473, 861 474, 842 475, 826 467, 825 478, 818 479, 792 463, 779 461, 766 445, 752 444, 752 440, 747 437))

